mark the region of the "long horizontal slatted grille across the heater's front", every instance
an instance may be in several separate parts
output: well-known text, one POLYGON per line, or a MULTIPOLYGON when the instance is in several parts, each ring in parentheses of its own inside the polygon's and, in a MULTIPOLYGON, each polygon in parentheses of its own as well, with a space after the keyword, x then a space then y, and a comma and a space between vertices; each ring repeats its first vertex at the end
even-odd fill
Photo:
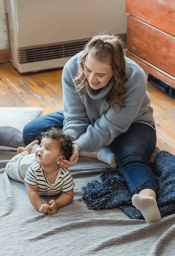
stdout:
MULTIPOLYGON (((126 46, 126 33, 119 35, 126 46)), ((10 40, 10 38, 9 38, 10 40)), ((17 57, 19 64, 52 60, 57 58, 72 57, 83 50, 88 39, 80 41, 64 42, 59 44, 47 44, 36 47, 19 48, 17 57)))

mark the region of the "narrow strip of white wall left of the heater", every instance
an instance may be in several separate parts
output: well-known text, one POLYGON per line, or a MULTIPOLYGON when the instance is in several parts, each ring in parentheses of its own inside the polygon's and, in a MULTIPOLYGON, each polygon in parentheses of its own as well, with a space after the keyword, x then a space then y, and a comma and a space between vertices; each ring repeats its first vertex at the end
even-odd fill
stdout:
POLYGON ((8 49, 4 1, 0 0, 0 50, 8 49))

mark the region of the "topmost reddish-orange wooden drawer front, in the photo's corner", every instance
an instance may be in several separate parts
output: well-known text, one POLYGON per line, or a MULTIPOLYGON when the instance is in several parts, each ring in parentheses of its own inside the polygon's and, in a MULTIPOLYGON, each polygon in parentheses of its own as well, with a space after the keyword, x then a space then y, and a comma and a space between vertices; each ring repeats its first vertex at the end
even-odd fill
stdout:
POLYGON ((126 13, 175 36, 174 0, 126 0, 126 13))

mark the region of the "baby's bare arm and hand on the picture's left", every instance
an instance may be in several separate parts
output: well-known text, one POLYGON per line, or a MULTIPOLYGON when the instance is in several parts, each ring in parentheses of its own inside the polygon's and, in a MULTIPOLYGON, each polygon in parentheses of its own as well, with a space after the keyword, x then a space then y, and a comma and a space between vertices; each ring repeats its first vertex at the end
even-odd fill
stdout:
POLYGON ((35 207, 35 209, 40 213, 50 213, 50 206, 47 203, 43 203, 38 194, 38 186, 30 186, 26 184, 26 187, 30 203, 35 207))

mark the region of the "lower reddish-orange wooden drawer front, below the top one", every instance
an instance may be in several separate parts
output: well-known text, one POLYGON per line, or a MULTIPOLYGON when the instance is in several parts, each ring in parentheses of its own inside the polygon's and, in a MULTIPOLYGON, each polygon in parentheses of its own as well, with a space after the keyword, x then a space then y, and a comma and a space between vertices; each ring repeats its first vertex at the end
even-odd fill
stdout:
POLYGON ((127 15, 127 48, 175 76, 175 37, 127 15))

